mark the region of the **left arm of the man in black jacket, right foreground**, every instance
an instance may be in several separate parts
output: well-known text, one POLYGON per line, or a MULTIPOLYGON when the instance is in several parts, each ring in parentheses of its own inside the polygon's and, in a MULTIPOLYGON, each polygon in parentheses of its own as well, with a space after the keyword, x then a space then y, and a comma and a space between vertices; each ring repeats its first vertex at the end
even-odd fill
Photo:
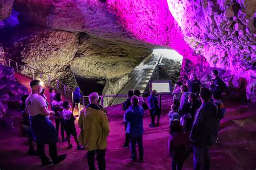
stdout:
POLYGON ((190 140, 192 142, 197 140, 199 132, 203 129, 203 124, 204 124, 204 109, 200 107, 199 110, 197 111, 196 118, 194 120, 194 124, 190 134, 190 140))

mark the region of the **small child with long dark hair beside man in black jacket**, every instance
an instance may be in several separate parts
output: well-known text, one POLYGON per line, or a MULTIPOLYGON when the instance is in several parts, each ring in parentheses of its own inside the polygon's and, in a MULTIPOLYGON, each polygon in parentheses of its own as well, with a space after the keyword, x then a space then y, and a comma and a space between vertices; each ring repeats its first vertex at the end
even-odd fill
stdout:
POLYGON ((183 132, 178 119, 172 120, 170 125, 170 137, 168 148, 172 157, 172 169, 182 169, 188 153, 189 138, 183 132))

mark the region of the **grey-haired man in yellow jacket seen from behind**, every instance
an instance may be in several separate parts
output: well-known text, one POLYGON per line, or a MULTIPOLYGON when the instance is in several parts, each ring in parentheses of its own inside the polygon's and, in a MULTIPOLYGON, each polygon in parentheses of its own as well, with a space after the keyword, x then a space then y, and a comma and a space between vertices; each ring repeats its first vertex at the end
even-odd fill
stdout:
POLYGON ((106 113, 97 106, 98 93, 89 95, 90 104, 80 113, 78 126, 81 129, 78 141, 88 151, 88 165, 90 170, 95 170, 95 154, 97 154, 99 170, 106 168, 105 152, 106 138, 109 135, 110 127, 106 113))

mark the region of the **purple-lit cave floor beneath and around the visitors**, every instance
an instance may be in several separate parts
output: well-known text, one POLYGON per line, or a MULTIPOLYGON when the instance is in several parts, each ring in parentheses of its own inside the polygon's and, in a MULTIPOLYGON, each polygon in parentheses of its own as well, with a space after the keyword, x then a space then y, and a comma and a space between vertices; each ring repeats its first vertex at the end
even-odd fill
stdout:
MULTIPOLYGON (((171 169, 171 158, 167 152, 168 123, 167 113, 171 105, 171 96, 163 99, 163 115, 160 126, 150 128, 149 111, 145 112, 143 135, 144 162, 130 161, 130 149, 123 148, 124 125, 123 111, 120 105, 109 109, 111 132, 106 151, 107 169, 171 169), (116 107, 117 109, 113 109, 116 107)), ((256 168, 256 100, 248 104, 229 104, 227 114, 221 121, 219 142, 210 148, 211 169, 255 169, 256 168)), ((18 127, 19 113, 9 110, 9 116, 18 127)), ((53 123, 54 124, 54 123, 53 123)), ((77 128, 77 132, 79 130, 77 128)), ((12 131, 0 129, 0 169, 88 169, 85 153, 77 151, 73 139, 72 149, 66 149, 67 143, 58 142, 58 153, 66 153, 67 158, 58 165, 41 167, 38 157, 26 155, 26 138, 21 137, 17 128, 12 131)), ((60 135, 60 134, 59 134, 60 135)), ((48 146, 46 146, 46 154, 48 146)), ((97 167, 97 161, 95 161, 97 167)), ((192 155, 183 169, 192 169, 192 155)))

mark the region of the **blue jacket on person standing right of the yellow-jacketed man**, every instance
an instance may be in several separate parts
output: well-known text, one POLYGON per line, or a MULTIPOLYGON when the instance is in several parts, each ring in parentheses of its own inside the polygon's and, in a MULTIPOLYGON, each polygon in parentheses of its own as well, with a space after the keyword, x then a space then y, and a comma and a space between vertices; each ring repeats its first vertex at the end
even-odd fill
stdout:
POLYGON ((130 106, 124 114, 124 120, 127 122, 126 133, 130 137, 139 137, 143 134, 144 110, 141 106, 130 106))

